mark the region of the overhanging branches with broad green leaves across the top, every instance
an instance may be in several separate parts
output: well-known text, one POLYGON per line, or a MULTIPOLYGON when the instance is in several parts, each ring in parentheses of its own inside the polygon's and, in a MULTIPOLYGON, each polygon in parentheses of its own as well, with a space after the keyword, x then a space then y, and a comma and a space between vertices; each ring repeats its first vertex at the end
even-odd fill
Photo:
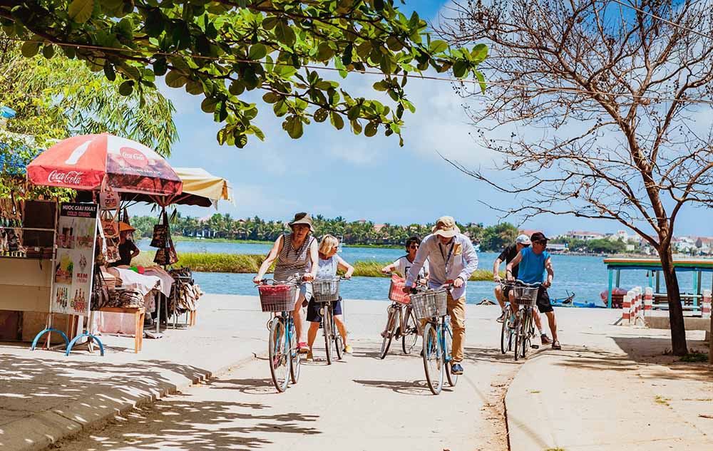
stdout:
POLYGON ((122 77, 123 94, 165 76, 170 87, 202 95, 202 110, 222 123, 217 140, 237 147, 249 135, 264 139, 253 124, 257 105, 242 100, 248 91, 264 93, 292 138, 312 120, 342 129, 345 118, 356 134, 400 137, 404 111, 415 110, 406 74, 433 68, 483 82, 476 68, 487 56, 482 44, 432 41, 426 22, 394 0, 0 0, 0 24, 25 41, 25 56, 61 49, 111 81, 122 77), (317 65, 342 77, 375 69, 374 90, 394 104, 350 95, 317 65))

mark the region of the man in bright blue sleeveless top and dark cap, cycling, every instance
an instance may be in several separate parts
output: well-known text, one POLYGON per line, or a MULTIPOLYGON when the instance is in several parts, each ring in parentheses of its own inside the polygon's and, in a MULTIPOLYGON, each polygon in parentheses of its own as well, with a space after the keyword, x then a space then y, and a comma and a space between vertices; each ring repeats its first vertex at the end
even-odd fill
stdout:
MULTIPOLYGON (((557 339, 557 321, 555 320, 555 311, 550 303, 550 296, 547 293, 547 289, 552 286, 552 279, 555 277, 555 270, 552 267, 552 259, 550 259, 550 253, 547 252, 547 242, 548 238, 542 232, 535 232, 530 237, 532 242, 532 247, 525 247, 519 254, 515 256, 513 260, 508 263, 506 269, 506 277, 508 280, 513 281, 513 267, 519 265, 518 279, 525 282, 525 284, 537 284, 541 283, 540 290, 537 296, 537 308, 541 313, 545 313, 547 316, 548 323, 550 324, 550 332, 552 333, 552 348, 562 349, 560 346, 560 341, 557 339), (545 271, 547 271, 547 279, 544 278, 545 271)), ((510 303, 515 306, 515 296, 512 291, 509 293, 510 303)), ((540 323, 540 315, 535 315, 535 324, 538 329, 542 331, 542 324, 540 323)), ((548 336, 543 333, 541 335, 541 340, 543 344, 549 343, 548 336)))

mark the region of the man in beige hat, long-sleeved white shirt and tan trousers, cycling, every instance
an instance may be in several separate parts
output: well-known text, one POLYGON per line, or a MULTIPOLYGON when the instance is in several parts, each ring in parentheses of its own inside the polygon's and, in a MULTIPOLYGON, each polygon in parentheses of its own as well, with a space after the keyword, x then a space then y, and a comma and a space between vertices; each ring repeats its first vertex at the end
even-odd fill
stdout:
POLYGON ((478 269, 478 254, 473 243, 456 226, 450 216, 438 218, 432 233, 424 238, 416 252, 414 264, 406 276, 406 293, 429 260, 429 288, 436 289, 453 281, 453 289, 448 291, 448 313, 453 324, 453 366, 451 373, 463 374, 463 341, 466 338, 466 285, 473 271, 478 269))

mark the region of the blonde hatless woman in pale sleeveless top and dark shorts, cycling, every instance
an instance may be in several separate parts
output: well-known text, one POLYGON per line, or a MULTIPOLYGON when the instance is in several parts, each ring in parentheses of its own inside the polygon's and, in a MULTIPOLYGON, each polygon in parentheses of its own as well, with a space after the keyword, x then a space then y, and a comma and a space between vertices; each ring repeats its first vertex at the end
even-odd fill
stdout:
MULTIPOLYGON (((337 255, 338 249, 339 239, 337 239, 337 237, 330 234, 322 237, 322 241, 319 242, 319 269, 317 269, 317 279, 328 279, 337 276, 337 269, 345 271, 344 279, 352 278, 354 266, 348 264, 342 257, 337 255)), ((322 304, 315 302, 314 299, 309 300, 309 304, 307 305, 307 321, 309 321, 309 331, 307 331, 309 353, 307 353, 307 360, 312 360, 312 345, 314 344, 314 339, 317 338, 319 323, 322 322, 322 315, 319 314, 319 309, 321 308, 322 304)), ((342 296, 339 296, 339 301, 332 304, 332 311, 334 311, 334 324, 337 325, 339 334, 342 335, 342 340, 344 341, 344 352, 351 354, 352 346, 347 344, 347 328, 344 326, 344 321, 342 320, 342 296)))

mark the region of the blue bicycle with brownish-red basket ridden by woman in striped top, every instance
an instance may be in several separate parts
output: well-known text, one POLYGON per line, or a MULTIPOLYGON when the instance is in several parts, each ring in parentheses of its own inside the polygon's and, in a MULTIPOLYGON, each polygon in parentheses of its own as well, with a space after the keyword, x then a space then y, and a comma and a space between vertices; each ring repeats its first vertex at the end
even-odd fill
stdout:
POLYGON ((299 380, 302 357, 297 348, 292 311, 300 285, 277 284, 274 279, 263 279, 257 286, 262 311, 270 313, 270 321, 267 321, 267 329, 270 331, 267 353, 272 383, 279 393, 287 390, 290 379, 292 383, 299 380), (272 284, 268 284, 270 281, 272 284))

